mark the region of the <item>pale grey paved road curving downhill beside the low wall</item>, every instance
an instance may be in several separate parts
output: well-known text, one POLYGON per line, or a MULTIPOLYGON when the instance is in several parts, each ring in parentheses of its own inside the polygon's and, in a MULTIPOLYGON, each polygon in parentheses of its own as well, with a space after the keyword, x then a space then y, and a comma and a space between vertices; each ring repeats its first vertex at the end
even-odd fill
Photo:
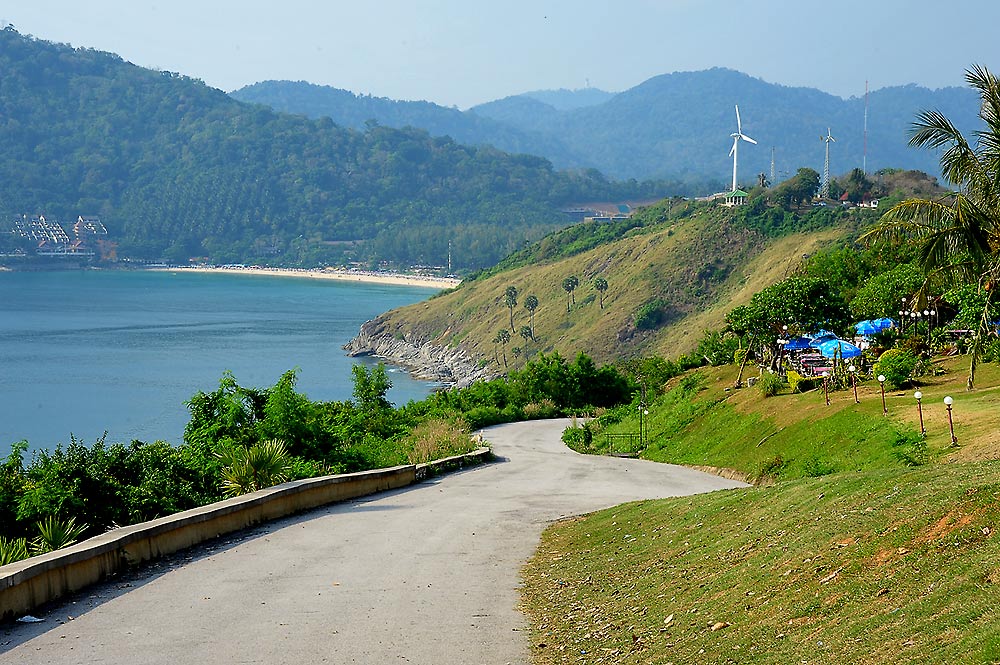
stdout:
POLYGON ((0 663, 527 663, 518 575, 546 524, 740 486, 577 455, 566 425, 491 428, 496 463, 275 522, 2 627, 0 663))

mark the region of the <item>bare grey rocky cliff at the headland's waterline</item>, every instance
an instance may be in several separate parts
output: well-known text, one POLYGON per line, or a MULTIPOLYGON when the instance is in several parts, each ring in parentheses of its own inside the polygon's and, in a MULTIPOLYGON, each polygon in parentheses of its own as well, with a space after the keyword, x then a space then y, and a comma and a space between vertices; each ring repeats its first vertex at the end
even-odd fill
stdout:
POLYGON ((357 336, 344 345, 350 356, 376 356, 428 381, 462 387, 496 376, 461 347, 441 346, 403 330, 383 314, 365 322, 357 336))

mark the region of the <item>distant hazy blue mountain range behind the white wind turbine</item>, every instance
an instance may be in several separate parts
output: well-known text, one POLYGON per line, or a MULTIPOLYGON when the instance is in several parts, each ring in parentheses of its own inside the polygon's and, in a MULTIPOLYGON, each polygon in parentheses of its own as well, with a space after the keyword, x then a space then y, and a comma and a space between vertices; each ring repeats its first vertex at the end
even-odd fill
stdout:
MULTIPOLYGON (((616 178, 669 177, 694 184, 709 178, 727 181, 736 104, 744 132, 758 141, 757 146, 740 150, 741 180, 752 183, 758 173, 770 175, 772 147, 777 180, 794 175, 802 166, 822 172, 825 147, 820 136, 826 135, 827 128, 836 139, 830 151, 833 174, 860 168, 864 161, 863 85, 859 81, 859 96, 845 100, 813 88, 776 85, 716 68, 657 76, 617 95, 588 89, 529 92, 464 113, 426 102, 378 100, 374 104, 369 98, 305 83, 268 82, 233 94, 285 111, 326 115, 346 125, 374 118, 393 126, 422 127, 465 143, 527 150, 557 167, 596 168, 616 178), (334 96, 337 103, 324 101, 334 96), (400 104, 411 109, 402 117, 394 110, 400 104), (526 140, 534 143, 526 147, 526 140)), ((910 123, 920 110, 939 109, 963 131, 974 129, 974 96, 965 88, 928 90, 916 85, 872 92, 868 171, 903 168, 936 173, 935 154, 907 146, 910 123)))

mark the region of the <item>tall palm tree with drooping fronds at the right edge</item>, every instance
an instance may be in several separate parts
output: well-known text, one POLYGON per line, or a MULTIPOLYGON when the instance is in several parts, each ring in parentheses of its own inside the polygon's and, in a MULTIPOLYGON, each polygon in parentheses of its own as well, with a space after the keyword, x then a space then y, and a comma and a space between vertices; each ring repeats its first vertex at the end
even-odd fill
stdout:
POLYGON ((933 201, 897 204, 862 239, 917 245, 925 280, 913 307, 924 306, 932 284, 978 286, 985 304, 969 350, 967 387, 972 390, 976 365, 992 334, 1000 286, 1000 80, 978 65, 966 71, 965 80, 979 91, 979 117, 986 123, 985 130, 974 133, 974 145, 938 111, 921 112, 910 134, 911 146, 945 148, 941 170, 956 191, 933 201))

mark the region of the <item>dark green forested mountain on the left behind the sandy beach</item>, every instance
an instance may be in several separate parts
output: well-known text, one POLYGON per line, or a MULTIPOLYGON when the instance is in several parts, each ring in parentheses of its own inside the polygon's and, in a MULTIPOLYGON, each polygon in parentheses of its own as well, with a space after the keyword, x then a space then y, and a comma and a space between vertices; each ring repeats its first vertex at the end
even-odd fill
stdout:
POLYGON ((422 129, 365 131, 241 103, 92 49, 0 31, 0 213, 99 215, 119 255, 491 265, 574 201, 658 185, 422 129))

